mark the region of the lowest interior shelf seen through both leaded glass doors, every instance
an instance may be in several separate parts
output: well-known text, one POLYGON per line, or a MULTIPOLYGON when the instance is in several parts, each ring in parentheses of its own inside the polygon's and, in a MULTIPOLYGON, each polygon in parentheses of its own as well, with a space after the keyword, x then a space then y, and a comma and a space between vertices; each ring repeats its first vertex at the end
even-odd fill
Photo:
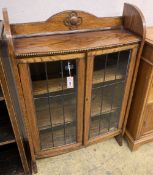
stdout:
MULTIPOLYGON (((114 113, 116 110, 110 112, 114 113)), ((113 132, 117 130, 117 123, 114 125, 109 122, 111 120, 110 118, 110 113, 105 113, 103 114, 103 119, 101 119, 100 125, 100 133, 99 133, 99 116, 94 116, 92 117, 92 122, 91 122, 91 131, 90 131, 90 137, 95 137, 98 136, 99 134, 106 134, 109 132, 113 132)), ((46 128, 45 130, 40 131, 40 138, 41 138, 41 143, 42 143, 42 148, 53 148, 53 147, 58 147, 58 146, 63 146, 65 144, 71 144, 76 142, 76 128, 74 127, 73 123, 69 123, 65 127, 65 140, 64 140, 64 127, 63 125, 56 126, 53 128, 53 139, 54 139, 54 145, 53 145, 53 140, 52 140, 52 129, 51 128, 46 128)))

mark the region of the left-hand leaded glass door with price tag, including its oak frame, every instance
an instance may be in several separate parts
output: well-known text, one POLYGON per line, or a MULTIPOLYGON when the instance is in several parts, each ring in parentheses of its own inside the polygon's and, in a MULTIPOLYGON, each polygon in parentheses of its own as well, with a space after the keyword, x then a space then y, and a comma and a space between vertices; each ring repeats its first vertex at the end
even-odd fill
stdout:
POLYGON ((84 66, 84 58, 19 66, 36 154, 82 144, 84 66))

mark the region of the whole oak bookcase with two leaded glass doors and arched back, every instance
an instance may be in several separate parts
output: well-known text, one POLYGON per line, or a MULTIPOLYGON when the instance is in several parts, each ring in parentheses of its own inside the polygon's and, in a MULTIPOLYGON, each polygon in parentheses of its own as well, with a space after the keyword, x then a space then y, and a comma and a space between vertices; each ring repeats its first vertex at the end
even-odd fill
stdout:
POLYGON ((3 16, 33 163, 111 137, 121 145, 145 38, 140 10, 72 10, 23 24, 3 16))

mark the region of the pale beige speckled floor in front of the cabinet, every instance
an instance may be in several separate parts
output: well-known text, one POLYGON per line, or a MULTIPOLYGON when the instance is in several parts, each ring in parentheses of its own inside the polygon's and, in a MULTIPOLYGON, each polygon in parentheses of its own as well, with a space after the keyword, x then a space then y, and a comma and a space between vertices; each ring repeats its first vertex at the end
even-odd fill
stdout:
POLYGON ((110 139, 37 161, 36 175, 153 175, 153 142, 131 152, 110 139))

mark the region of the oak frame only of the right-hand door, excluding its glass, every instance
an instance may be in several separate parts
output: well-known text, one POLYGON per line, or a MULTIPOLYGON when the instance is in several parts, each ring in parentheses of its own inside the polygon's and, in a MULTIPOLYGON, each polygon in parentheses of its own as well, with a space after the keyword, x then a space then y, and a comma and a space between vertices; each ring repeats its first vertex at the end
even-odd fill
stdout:
POLYGON ((96 142, 99 142, 101 140, 105 140, 107 138, 122 134, 122 127, 123 127, 123 122, 124 122, 124 118, 125 118, 125 112, 126 112, 126 107, 127 107, 127 103, 128 103, 128 95, 129 95, 129 91, 130 91, 130 87, 131 87, 131 83, 132 83, 132 77, 133 77, 134 67, 135 67, 136 58, 137 58, 136 56, 137 56, 138 47, 139 47, 138 44, 132 44, 132 45, 121 46, 121 47, 116 47, 116 48, 111 48, 111 49, 90 51, 87 53, 85 110, 84 110, 84 121, 85 121, 84 122, 84 145, 96 143, 96 142), (122 105, 121 105, 118 130, 106 133, 104 135, 97 136, 97 137, 89 140, 94 57, 96 55, 109 54, 109 53, 124 51, 124 50, 128 50, 128 49, 131 49, 132 51, 131 51, 130 64, 129 64, 129 68, 128 68, 128 77, 126 80, 125 89, 124 89, 124 96, 123 96, 122 105))

